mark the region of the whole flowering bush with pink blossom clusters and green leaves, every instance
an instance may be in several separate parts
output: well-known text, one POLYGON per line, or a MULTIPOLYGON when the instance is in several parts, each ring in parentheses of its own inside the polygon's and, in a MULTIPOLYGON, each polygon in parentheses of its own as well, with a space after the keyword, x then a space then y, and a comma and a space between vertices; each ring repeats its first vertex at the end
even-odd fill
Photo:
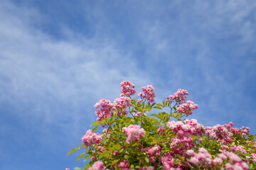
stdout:
POLYGON ((78 157, 90 159, 84 169, 256 169, 256 137, 250 128, 233 128, 231 122, 205 127, 185 119, 198 108, 186 101, 186 90, 154 103, 153 86, 143 87, 136 99, 131 97, 137 93, 134 84, 120 85, 113 103, 102 99, 95 104, 95 127, 82 137, 83 145, 68 153, 85 149, 78 157), (101 135, 95 133, 100 125, 105 128, 101 135))

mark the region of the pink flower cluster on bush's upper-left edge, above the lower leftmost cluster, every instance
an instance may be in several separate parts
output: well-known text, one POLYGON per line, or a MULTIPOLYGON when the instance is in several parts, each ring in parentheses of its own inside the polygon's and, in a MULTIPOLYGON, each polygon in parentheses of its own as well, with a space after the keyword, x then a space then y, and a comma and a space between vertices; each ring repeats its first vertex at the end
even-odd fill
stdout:
POLYGON ((105 118, 110 118, 112 116, 112 111, 114 111, 114 104, 110 101, 102 98, 98 103, 95 104, 95 108, 100 108, 95 111, 95 115, 97 115, 97 121, 100 121, 105 118))

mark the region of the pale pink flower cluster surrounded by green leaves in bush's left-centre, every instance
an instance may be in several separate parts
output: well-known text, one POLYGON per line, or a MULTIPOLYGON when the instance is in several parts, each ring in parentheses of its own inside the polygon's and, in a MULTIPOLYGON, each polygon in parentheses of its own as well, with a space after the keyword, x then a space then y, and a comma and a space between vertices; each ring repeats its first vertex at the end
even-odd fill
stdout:
POLYGON ((126 132, 128 137, 126 142, 129 144, 131 141, 138 142, 140 137, 145 135, 145 130, 140 128, 139 125, 129 125, 128 128, 122 128, 122 132, 126 132))

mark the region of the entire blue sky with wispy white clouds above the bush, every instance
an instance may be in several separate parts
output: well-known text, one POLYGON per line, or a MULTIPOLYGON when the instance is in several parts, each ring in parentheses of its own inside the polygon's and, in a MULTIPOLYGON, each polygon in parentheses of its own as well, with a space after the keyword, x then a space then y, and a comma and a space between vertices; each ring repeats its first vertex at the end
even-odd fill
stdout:
POLYGON ((186 89, 203 125, 256 132, 256 1, 1 1, 0 169, 82 166, 94 104, 186 89))

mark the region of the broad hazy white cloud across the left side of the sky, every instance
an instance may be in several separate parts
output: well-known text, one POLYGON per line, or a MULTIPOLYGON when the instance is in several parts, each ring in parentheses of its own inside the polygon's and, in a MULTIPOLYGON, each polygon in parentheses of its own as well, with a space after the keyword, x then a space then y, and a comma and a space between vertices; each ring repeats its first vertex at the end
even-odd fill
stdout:
POLYGON ((117 98, 124 79, 148 81, 131 54, 110 37, 97 36, 97 30, 84 38, 63 26, 65 40, 58 40, 33 26, 33 20, 41 20, 35 9, 7 1, 1 3, 0 19, 0 103, 23 111, 15 114, 24 125, 38 129, 39 121, 41 132, 57 125, 71 134, 84 127, 81 117, 95 120, 88 103, 117 98))

